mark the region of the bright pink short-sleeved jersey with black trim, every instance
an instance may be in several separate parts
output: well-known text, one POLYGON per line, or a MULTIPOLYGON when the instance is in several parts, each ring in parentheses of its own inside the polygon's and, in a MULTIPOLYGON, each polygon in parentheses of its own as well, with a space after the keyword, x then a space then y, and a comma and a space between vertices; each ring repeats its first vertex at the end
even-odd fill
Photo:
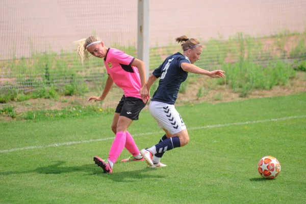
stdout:
POLYGON ((123 89, 125 97, 140 98, 141 80, 137 67, 132 66, 135 57, 121 50, 109 48, 104 58, 107 73, 114 83, 123 89))

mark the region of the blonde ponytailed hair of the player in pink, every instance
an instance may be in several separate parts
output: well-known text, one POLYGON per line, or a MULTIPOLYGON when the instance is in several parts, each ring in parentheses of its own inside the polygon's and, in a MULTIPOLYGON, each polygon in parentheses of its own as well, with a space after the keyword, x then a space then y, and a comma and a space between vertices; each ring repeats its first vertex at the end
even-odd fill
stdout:
POLYGON ((100 38, 94 35, 91 35, 84 39, 74 41, 74 43, 77 44, 78 46, 77 55, 80 58, 80 61, 82 62, 82 64, 84 64, 84 62, 86 62, 89 57, 89 52, 87 51, 86 46, 88 46, 88 44, 95 42, 95 41, 100 41, 100 38))

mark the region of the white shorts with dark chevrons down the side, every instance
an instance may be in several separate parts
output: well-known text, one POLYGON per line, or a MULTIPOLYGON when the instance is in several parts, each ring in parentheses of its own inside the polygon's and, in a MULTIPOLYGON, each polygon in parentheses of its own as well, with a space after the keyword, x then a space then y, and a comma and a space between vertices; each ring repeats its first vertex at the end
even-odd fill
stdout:
POLYGON ((168 130, 171 134, 186 129, 185 123, 174 105, 158 101, 150 101, 150 114, 157 121, 160 128, 168 130))

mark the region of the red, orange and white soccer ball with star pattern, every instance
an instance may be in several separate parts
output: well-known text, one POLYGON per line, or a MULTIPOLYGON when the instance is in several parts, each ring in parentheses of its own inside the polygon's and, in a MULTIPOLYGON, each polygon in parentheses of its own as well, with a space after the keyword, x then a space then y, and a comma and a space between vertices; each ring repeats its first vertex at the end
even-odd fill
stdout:
POLYGON ((264 156, 258 163, 258 172, 263 178, 273 179, 281 172, 281 164, 273 156, 264 156))

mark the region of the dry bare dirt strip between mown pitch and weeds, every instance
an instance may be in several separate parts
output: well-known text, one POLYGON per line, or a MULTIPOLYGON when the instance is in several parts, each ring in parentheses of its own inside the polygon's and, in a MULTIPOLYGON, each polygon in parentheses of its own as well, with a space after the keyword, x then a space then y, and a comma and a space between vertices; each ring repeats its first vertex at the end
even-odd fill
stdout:
MULTIPOLYGON (((240 101, 249 98, 264 98, 273 96, 285 96, 306 92, 306 73, 299 72, 296 77, 286 86, 274 86, 271 90, 253 90, 246 98, 239 97, 239 93, 227 85, 211 85, 214 79, 208 77, 198 77, 189 80, 185 93, 179 93, 176 106, 197 103, 220 103, 228 101, 240 101), (202 95, 198 95, 199 88, 202 87, 202 95)), ((62 109, 67 106, 75 105, 98 105, 102 109, 116 108, 123 92, 120 88, 113 86, 111 92, 103 102, 88 102, 90 96, 98 96, 101 93, 90 92, 84 96, 61 96, 58 100, 54 99, 31 99, 23 102, 9 102, 0 104, 0 109, 4 106, 14 106, 17 114, 30 110, 50 110, 62 109)), ((148 109, 148 105, 145 107, 148 109)))

